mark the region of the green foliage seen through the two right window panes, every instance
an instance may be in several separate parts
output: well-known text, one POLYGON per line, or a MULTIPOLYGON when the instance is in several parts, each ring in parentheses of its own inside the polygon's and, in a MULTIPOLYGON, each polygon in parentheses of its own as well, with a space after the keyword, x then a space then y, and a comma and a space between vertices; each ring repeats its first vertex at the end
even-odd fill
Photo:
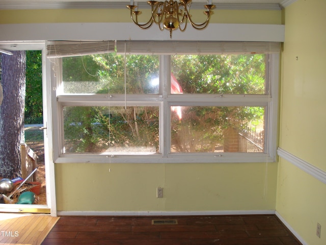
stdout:
MULTIPOLYGON (((172 56, 172 72, 184 93, 264 94, 265 55, 172 56)), ((224 131, 262 126, 263 107, 188 107, 172 122, 176 152, 214 152, 224 131)))

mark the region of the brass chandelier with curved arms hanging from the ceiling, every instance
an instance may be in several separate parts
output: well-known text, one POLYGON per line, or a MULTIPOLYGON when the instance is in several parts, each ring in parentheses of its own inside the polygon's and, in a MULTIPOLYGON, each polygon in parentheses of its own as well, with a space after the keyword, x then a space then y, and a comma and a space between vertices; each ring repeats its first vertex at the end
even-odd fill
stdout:
POLYGON ((206 11, 204 11, 206 20, 201 24, 197 24, 192 20, 192 16, 189 14, 192 0, 180 0, 179 3, 173 0, 166 0, 165 2, 148 1, 147 3, 151 6, 152 16, 146 23, 139 23, 138 16, 142 12, 138 11, 138 6, 134 5, 133 0, 130 1, 130 5, 127 5, 127 8, 130 9, 132 22, 137 24, 141 29, 148 29, 153 23, 156 23, 161 31, 164 29, 170 31, 170 38, 172 38, 173 30, 179 28, 180 31, 183 32, 187 27, 187 22, 197 30, 206 28, 209 18, 213 14, 211 10, 215 8, 211 0, 207 1, 207 5, 204 5, 206 8, 206 11), (181 26, 181 24, 183 25, 181 26))

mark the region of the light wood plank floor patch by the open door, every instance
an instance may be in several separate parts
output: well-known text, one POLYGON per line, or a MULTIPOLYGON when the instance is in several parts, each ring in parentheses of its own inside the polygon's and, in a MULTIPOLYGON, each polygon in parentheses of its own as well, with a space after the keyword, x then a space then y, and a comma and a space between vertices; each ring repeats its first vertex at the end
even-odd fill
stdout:
POLYGON ((40 245, 58 219, 49 214, 0 213, 0 245, 40 245))

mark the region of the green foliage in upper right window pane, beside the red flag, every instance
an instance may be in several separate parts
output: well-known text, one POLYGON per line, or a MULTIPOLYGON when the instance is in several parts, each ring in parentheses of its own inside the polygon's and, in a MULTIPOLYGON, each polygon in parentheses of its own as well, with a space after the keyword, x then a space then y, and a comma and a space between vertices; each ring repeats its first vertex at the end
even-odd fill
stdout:
POLYGON ((173 55, 171 70, 183 93, 265 94, 265 56, 173 55))

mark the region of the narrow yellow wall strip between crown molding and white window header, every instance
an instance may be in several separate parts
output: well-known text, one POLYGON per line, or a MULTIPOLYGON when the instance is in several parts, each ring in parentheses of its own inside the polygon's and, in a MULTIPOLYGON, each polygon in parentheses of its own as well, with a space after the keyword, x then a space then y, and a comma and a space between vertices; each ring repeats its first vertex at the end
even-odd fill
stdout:
MULTIPOLYGON (((149 16, 149 10, 140 16, 149 16)), ((194 20, 203 22, 202 10, 192 11, 194 20), (196 18, 198 16, 198 18, 196 18)), ((47 9, 0 10, 0 24, 65 22, 131 22, 126 9, 47 9)), ((281 24, 281 10, 214 10, 211 23, 281 24)), ((144 19, 145 21, 145 19, 144 19)))

